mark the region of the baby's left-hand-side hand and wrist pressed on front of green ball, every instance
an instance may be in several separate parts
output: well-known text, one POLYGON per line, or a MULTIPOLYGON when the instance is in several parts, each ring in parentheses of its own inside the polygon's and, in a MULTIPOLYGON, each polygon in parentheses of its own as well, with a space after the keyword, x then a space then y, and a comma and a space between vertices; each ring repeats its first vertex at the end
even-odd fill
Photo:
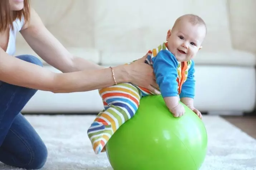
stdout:
POLYGON ((184 115, 185 109, 184 106, 179 103, 178 97, 165 97, 164 101, 174 117, 182 117, 182 115, 184 115))

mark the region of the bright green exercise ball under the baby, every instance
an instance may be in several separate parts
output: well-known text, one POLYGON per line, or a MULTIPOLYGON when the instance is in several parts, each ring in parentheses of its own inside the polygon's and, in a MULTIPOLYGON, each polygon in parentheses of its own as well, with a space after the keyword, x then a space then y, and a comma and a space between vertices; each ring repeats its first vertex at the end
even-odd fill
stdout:
POLYGON ((184 107, 185 114, 175 118, 161 95, 141 98, 134 117, 106 145, 112 168, 198 170, 207 152, 207 132, 202 120, 184 107))

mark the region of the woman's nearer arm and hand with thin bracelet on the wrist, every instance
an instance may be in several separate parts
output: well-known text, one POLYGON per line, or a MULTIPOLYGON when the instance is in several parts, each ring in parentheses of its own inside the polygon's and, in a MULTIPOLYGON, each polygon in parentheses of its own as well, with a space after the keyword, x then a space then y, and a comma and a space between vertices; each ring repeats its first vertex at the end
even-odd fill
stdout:
MULTIPOLYGON (((155 85, 153 72, 144 58, 131 65, 113 67, 117 83, 134 82, 148 87, 158 93, 150 84, 155 85), (141 74, 140 69, 147 70, 148 76, 141 74), (151 71, 151 72, 150 72, 151 71)), ((0 81, 54 93, 83 92, 108 87, 115 82, 110 68, 95 71, 77 71, 55 73, 38 65, 8 55, 0 48, 0 81)))

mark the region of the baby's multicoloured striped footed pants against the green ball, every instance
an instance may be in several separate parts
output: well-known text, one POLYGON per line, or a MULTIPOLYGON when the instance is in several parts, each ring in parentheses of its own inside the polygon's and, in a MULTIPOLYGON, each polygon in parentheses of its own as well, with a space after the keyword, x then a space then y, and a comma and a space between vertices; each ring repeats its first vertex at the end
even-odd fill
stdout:
POLYGON ((103 101, 102 110, 87 134, 96 154, 106 151, 105 145, 116 130, 136 113, 140 98, 152 95, 148 89, 130 83, 120 83, 99 90, 103 101))

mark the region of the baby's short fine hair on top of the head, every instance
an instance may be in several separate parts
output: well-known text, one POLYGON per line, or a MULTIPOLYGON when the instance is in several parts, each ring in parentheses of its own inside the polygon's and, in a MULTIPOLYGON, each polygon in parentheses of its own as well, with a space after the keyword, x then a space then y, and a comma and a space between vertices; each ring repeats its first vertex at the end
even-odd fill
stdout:
POLYGON ((204 20, 201 17, 199 17, 198 15, 194 15, 194 14, 185 14, 185 15, 178 17, 178 19, 175 21, 175 23, 173 25, 173 28, 179 23, 179 21, 181 21, 183 19, 188 19, 188 21, 193 25, 197 25, 197 24, 203 25, 207 32, 206 23, 204 22, 204 20))

